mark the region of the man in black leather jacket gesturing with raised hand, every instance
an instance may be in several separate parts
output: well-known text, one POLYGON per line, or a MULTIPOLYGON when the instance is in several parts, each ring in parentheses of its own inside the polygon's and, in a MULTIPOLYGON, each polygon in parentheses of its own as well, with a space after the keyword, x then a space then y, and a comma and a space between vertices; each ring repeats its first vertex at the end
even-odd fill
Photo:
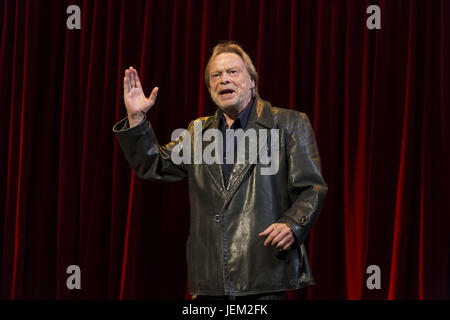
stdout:
POLYGON ((160 146, 145 117, 155 104, 158 88, 146 98, 137 71, 130 67, 124 77, 128 117, 113 131, 138 177, 189 180, 191 294, 283 299, 288 290, 314 284, 303 241, 327 193, 314 132, 305 114, 272 107, 259 97, 255 67, 235 43, 214 48, 205 80, 218 106, 216 113, 192 121, 185 134, 160 146), (249 146, 237 148, 242 147, 236 143, 239 136, 225 139, 232 129, 258 132, 258 147, 265 148, 259 148, 253 160, 262 159, 261 151, 268 150, 272 162, 278 164, 276 170, 263 174, 267 163, 249 158, 236 162, 233 151, 237 156, 252 155, 249 146), (218 143, 222 149, 216 149, 220 156, 215 155, 219 161, 189 161, 192 156, 184 158, 188 161, 174 161, 177 154, 187 155, 191 146, 196 151, 200 148, 200 155, 206 151, 207 139, 198 144, 195 138, 208 130, 223 134, 218 143), (262 135, 265 131, 277 134, 262 135))

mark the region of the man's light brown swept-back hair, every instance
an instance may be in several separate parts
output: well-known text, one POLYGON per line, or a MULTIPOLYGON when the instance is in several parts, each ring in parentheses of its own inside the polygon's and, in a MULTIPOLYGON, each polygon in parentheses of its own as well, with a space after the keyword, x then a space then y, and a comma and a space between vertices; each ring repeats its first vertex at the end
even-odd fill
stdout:
POLYGON ((209 58, 208 64, 206 65, 206 69, 205 69, 205 81, 206 81, 206 86, 208 87, 208 90, 210 90, 209 65, 211 64, 211 61, 221 53, 235 53, 239 57, 241 57, 241 59, 244 61, 247 72, 250 74, 250 78, 253 81, 255 81, 255 87, 252 90, 252 97, 258 95, 258 73, 256 72, 256 68, 253 65, 252 59, 250 59, 250 57, 244 51, 244 49, 242 49, 242 47, 234 41, 223 41, 223 42, 218 43, 213 48, 213 53, 212 53, 211 57, 209 58))

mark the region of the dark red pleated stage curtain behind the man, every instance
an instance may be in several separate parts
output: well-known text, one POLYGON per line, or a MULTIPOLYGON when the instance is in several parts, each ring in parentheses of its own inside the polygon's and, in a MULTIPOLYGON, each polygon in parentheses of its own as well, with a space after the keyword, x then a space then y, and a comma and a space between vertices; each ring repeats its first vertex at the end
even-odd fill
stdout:
POLYGON ((449 1, 4 0, 0 19, 0 298, 189 297, 187 184, 135 178, 111 128, 130 65, 160 88, 161 142, 212 114, 203 72, 226 39, 264 99, 308 114, 321 152, 317 285, 290 297, 449 298, 449 1))

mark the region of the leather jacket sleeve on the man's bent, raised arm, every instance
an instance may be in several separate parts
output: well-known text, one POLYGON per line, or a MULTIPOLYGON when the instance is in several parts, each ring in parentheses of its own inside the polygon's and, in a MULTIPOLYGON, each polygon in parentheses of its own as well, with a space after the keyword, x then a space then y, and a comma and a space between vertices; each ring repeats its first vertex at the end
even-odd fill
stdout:
POLYGON ((113 127, 119 145, 133 171, 146 180, 179 181, 187 177, 186 164, 175 164, 172 150, 182 145, 183 136, 165 146, 160 146, 146 118, 137 126, 129 128, 128 118, 113 127))

